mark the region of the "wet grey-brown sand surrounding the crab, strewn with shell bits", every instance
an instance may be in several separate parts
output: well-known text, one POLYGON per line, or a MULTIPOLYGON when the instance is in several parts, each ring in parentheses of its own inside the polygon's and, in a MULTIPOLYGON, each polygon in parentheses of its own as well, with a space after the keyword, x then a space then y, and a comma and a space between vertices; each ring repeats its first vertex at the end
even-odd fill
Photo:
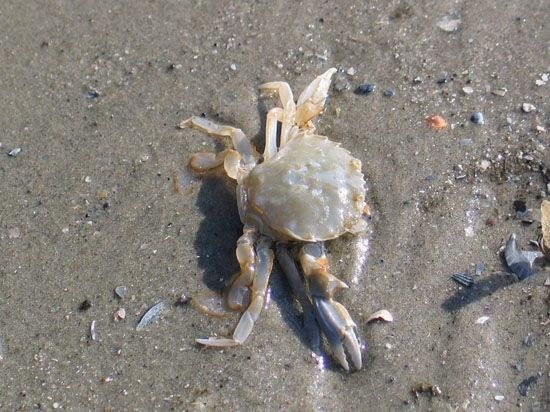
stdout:
POLYGON ((549 269, 514 282, 498 253, 529 248, 549 196, 547 1, 26 3, 0 6, 0 409, 550 408, 549 269), (258 85, 333 66, 318 131, 363 162, 372 209, 360 271, 357 243, 328 245, 364 368, 316 364, 277 266, 246 344, 201 350, 236 319, 186 297, 236 271, 242 225, 230 184, 185 175, 216 143, 175 126, 204 113, 262 147, 258 85), (450 280, 477 262, 473 288, 450 280), (366 324, 379 309, 395 321, 366 324))

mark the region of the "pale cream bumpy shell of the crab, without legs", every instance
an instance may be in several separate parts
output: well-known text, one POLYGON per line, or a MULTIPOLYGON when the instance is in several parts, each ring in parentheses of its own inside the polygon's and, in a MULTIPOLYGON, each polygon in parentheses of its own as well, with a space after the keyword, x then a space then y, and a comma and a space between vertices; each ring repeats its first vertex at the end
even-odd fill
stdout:
POLYGON ((365 230, 361 161, 324 136, 300 133, 239 187, 243 223, 277 240, 307 242, 365 230))

